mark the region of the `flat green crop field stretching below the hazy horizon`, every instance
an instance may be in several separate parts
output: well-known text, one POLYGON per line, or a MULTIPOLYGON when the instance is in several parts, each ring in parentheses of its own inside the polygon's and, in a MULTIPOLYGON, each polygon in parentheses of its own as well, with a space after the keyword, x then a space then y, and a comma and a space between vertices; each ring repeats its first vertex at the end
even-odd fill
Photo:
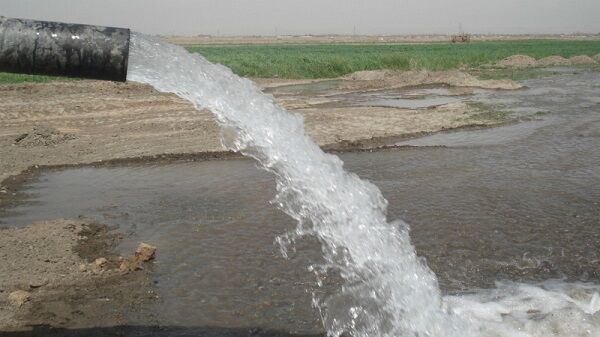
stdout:
MULTIPOLYGON (((511 55, 536 59, 550 55, 571 57, 600 53, 600 40, 516 40, 468 44, 273 44, 203 45, 186 47, 212 62, 224 64, 242 76, 332 78, 359 70, 456 68, 478 69, 511 55)), ((512 72, 511 72, 512 74, 512 72)), ((0 73, 0 84, 50 82, 60 77, 0 73)))

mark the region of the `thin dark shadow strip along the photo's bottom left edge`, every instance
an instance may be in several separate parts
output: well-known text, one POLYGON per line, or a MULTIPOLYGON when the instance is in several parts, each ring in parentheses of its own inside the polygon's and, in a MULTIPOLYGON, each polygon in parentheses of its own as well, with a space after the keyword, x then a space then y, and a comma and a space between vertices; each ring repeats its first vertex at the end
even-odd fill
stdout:
POLYGON ((36 325, 29 331, 0 332, 1 337, 324 337, 325 334, 293 334, 260 328, 115 326, 63 329, 36 325))

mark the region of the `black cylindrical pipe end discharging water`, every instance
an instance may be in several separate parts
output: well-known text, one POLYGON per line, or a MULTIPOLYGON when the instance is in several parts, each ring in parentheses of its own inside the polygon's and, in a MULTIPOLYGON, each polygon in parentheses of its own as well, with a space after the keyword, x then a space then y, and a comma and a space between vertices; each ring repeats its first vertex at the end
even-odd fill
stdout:
POLYGON ((127 79, 129 29, 0 16, 0 72, 127 79))

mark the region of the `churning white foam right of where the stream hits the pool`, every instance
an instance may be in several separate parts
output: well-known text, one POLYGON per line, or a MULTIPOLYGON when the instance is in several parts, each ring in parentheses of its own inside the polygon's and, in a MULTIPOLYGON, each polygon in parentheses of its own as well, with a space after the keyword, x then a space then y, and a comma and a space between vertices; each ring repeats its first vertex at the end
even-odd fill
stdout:
POLYGON ((471 319, 482 336, 600 336, 600 286, 547 281, 498 282, 495 289, 447 296, 450 312, 471 319))

